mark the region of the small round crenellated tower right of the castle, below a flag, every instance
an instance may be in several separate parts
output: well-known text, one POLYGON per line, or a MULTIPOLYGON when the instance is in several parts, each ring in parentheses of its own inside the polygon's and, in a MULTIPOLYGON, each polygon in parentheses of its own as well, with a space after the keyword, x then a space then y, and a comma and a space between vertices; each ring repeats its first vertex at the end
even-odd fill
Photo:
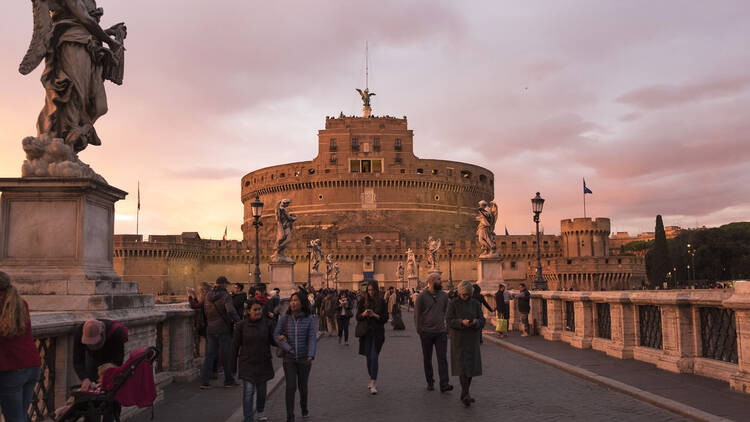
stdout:
POLYGON ((609 256, 609 218, 560 221, 563 256, 609 256))

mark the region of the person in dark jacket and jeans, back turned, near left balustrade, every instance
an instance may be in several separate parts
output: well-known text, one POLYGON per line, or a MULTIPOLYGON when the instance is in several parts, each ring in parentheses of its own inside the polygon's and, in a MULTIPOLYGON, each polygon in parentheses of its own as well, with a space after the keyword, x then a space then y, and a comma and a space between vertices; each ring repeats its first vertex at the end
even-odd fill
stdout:
POLYGON ((206 358, 203 360, 201 371, 201 389, 211 388, 209 378, 213 372, 213 361, 219 351, 224 365, 224 386, 238 385, 232 377, 232 328, 240 321, 240 317, 227 292, 228 284, 226 277, 217 278, 216 285, 208 292, 203 304, 206 313, 206 358))

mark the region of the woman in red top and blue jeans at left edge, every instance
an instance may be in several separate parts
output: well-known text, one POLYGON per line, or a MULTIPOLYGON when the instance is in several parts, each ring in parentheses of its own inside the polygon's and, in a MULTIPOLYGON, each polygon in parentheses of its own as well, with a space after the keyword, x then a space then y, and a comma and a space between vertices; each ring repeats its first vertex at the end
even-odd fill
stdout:
POLYGON ((29 306, 0 272, 0 408, 5 422, 26 422, 42 360, 31 335, 29 306))

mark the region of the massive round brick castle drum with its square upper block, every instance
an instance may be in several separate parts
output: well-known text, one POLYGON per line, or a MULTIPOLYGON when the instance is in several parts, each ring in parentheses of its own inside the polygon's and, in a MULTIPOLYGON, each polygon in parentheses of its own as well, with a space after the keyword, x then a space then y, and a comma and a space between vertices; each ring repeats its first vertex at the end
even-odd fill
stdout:
MULTIPOLYGON (((260 169, 242 178, 245 240, 254 239, 250 203, 265 204, 262 239, 274 239, 275 206, 291 200, 299 242, 307 230, 397 231, 402 239, 470 239, 480 200, 494 197, 491 171, 423 160, 413 153, 406 117, 327 117, 312 161, 260 169)), ((268 251, 264 251, 268 252, 268 251)))

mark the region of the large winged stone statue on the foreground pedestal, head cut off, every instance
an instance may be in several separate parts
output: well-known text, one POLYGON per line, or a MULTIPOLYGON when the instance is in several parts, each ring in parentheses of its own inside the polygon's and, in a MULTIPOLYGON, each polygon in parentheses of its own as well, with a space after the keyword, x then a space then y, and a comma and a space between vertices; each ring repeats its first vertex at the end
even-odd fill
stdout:
POLYGON ((99 26, 95 0, 32 0, 34 33, 19 72, 28 75, 44 60, 45 105, 37 136, 23 140, 23 177, 87 177, 104 182, 78 153, 101 145, 94 123, 107 112, 104 81, 121 85, 124 23, 99 26), (104 45, 108 47, 105 47, 104 45))

